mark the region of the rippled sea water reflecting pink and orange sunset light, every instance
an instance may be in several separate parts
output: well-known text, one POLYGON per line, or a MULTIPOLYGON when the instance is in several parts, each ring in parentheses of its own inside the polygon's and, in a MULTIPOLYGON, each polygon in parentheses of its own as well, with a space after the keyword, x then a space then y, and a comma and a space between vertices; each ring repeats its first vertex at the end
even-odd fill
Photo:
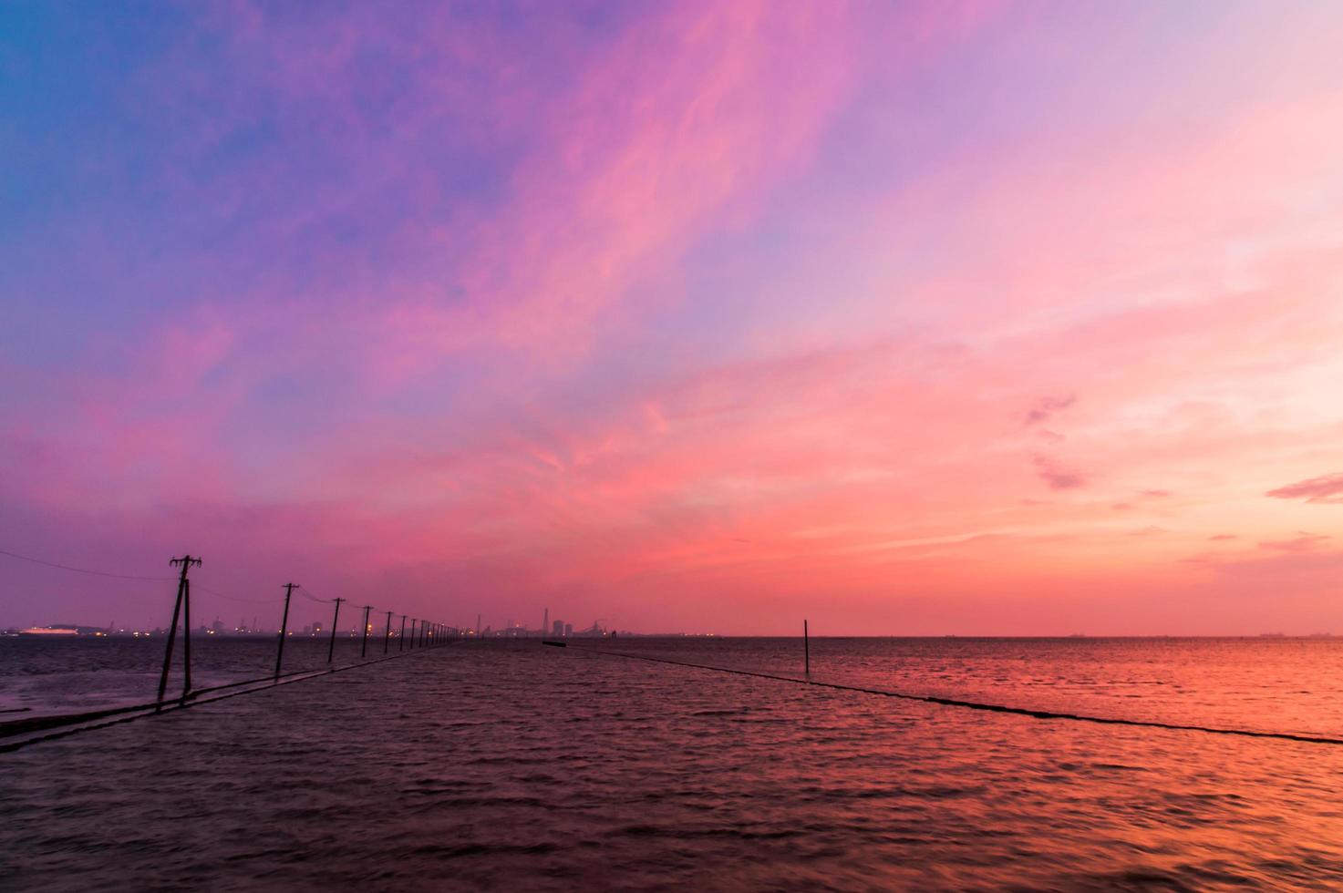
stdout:
MULTIPOLYGON (((265 642, 207 645, 203 679, 274 666, 265 642)), ((1343 886, 1339 747, 611 654, 798 675, 796 641, 582 645, 457 643, 3 755, 0 888, 1343 886)), ((1343 733, 1328 639, 821 639, 811 655, 825 681, 1343 733)), ((154 657, 0 641, 0 697, 142 700, 154 657)), ((293 666, 325 657, 304 642, 293 666)))

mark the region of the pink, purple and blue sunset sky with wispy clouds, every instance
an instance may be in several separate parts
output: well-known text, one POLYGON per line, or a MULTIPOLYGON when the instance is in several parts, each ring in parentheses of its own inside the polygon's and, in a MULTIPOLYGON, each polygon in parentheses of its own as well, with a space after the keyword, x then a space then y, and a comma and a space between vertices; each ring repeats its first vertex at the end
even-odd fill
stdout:
MULTIPOLYGON (((1343 634, 1340 43, 1339 4, 4 4, 0 549, 200 555, 228 624, 297 581, 1343 634)), ((0 555, 0 624, 173 595, 0 555)))

